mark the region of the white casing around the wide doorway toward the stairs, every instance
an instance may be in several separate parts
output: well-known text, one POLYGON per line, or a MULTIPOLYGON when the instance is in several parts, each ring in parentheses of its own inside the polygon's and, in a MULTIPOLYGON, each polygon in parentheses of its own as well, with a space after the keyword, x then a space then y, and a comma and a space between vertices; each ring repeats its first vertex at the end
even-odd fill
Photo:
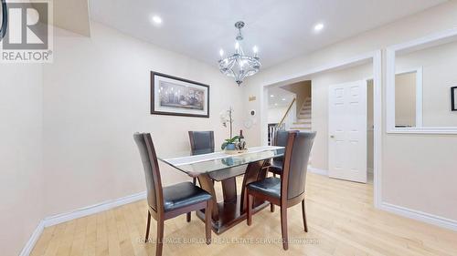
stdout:
MULTIPOLYGON (((277 79, 266 82, 260 87, 260 132, 261 141, 263 145, 268 143, 268 131, 264 129, 267 125, 267 113, 268 113, 268 96, 266 91, 268 87, 281 87, 287 84, 295 83, 304 80, 306 77, 332 71, 344 67, 354 67, 359 64, 373 63, 373 87, 374 87, 374 180, 373 180, 373 194, 374 194, 374 206, 377 209, 381 208, 382 204, 382 51, 377 50, 368 52, 367 54, 351 57, 343 61, 330 63, 322 67, 315 67, 299 74, 278 77, 277 79)), ((312 114, 313 115, 313 114, 312 114)))

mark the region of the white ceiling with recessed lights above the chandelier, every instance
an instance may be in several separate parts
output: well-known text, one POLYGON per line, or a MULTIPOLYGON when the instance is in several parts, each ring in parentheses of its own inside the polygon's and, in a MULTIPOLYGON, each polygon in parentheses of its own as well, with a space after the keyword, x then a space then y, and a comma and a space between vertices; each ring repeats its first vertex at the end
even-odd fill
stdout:
POLYGON ((446 0, 90 0, 91 19, 209 64, 232 52, 234 23, 263 67, 329 46, 446 0), (151 23, 160 15, 161 26, 151 23), (324 23, 316 34, 314 25, 324 23))

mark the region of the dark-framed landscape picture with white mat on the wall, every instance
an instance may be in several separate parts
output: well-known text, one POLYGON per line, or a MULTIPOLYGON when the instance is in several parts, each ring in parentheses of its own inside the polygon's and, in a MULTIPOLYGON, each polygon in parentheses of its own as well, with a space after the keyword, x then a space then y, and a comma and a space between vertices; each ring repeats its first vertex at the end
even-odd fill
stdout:
POLYGON ((209 118, 209 86, 153 71, 151 114, 209 118))

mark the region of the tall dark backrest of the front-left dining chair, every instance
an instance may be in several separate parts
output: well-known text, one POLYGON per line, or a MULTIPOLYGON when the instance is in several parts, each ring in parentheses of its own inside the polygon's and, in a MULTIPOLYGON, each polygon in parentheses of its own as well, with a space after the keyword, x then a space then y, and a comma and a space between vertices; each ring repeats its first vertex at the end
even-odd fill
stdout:
POLYGON ((143 162, 144 178, 146 179, 147 202, 156 212, 164 210, 162 180, 160 179, 159 164, 155 155, 154 143, 149 133, 135 133, 133 139, 140 151, 143 162))

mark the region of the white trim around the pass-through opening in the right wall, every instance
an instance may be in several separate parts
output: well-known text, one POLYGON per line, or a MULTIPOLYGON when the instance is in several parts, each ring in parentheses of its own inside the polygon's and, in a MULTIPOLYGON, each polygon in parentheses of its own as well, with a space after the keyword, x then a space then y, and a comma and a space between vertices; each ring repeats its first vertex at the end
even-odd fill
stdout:
MULTIPOLYGON (((387 86, 386 86, 386 129, 388 133, 401 133, 401 134, 457 134, 457 127, 423 127, 417 126, 415 128, 396 128, 395 127, 395 75, 396 72, 396 54, 397 52, 409 52, 413 50, 420 50, 428 46, 437 46, 439 43, 447 43, 457 39, 457 27, 452 28, 440 33, 425 36, 407 43, 389 46, 386 50, 387 56, 387 86)), ((422 82, 422 72, 418 72, 418 78, 422 82), (420 77, 419 77, 420 76, 420 77)), ((420 91, 422 89, 420 88, 420 91)), ((422 101, 422 95, 417 95, 416 101, 422 101)), ((418 105, 417 110, 422 112, 421 105, 418 105)), ((418 112, 416 118, 418 118, 418 112)), ((420 125, 422 117, 419 119, 420 125)))

